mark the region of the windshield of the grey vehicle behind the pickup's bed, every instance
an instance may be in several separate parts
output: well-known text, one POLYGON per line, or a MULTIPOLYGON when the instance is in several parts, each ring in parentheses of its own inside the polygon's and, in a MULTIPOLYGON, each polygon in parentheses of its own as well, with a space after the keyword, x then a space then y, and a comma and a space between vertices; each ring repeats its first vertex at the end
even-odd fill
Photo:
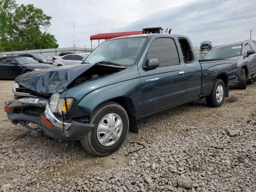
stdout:
POLYGON ((220 47, 210 50, 205 56, 204 60, 208 59, 223 59, 229 57, 235 57, 241 54, 242 45, 232 45, 226 47, 220 47))

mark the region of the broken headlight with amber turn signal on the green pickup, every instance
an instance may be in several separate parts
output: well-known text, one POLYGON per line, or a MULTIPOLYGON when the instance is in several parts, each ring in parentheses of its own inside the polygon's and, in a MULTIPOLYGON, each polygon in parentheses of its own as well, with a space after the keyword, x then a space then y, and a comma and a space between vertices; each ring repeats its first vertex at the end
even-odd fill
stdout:
POLYGON ((62 114, 62 111, 63 111, 63 114, 66 114, 73 103, 73 98, 59 98, 59 97, 60 97, 60 94, 58 93, 52 94, 50 98, 50 108, 54 113, 62 114))

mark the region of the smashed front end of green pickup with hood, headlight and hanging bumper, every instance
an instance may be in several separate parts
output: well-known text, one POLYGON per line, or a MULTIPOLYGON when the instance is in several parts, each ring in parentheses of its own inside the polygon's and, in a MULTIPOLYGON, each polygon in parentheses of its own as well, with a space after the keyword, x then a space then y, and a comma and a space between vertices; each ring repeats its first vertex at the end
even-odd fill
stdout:
POLYGON ((77 98, 60 98, 60 95, 64 95, 69 88, 124 69, 81 64, 66 70, 64 67, 53 68, 19 76, 12 90, 16 100, 5 102, 4 111, 12 123, 27 128, 32 137, 45 134, 59 140, 80 140, 95 125, 89 124, 89 116, 84 116, 82 112, 80 116, 78 113, 72 115, 74 110, 80 110, 76 106, 77 98), (71 108, 73 110, 70 111, 71 108), (35 130, 29 123, 38 124, 42 128, 35 130))

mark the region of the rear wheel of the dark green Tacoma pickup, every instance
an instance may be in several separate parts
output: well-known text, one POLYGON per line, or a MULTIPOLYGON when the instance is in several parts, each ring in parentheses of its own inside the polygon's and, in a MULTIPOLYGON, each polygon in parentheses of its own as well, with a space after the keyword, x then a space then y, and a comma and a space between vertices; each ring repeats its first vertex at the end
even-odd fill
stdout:
POLYGON ((219 107, 223 104, 224 98, 225 98, 225 84, 221 79, 217 79, 214 82, 211 94, 206 97, 207 105, 209 107, 219 107), (220 90, 222 90, 221 93, 220 93, 220 90), (217 97, 218 93, 220 93, 220 97, 217 97), (221 95, 222 95, 222 98, 221 98, 221 95))

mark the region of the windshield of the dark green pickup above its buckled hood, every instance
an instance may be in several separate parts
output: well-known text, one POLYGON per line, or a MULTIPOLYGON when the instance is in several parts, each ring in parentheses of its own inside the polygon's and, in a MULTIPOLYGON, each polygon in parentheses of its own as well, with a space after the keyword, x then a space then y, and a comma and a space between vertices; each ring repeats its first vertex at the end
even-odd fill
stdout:
POLYGON ((133 37, 108 40, 100 44, 84 62, 112 62, 124 66, 133 65, 137 60, 146 37, 133 37))

